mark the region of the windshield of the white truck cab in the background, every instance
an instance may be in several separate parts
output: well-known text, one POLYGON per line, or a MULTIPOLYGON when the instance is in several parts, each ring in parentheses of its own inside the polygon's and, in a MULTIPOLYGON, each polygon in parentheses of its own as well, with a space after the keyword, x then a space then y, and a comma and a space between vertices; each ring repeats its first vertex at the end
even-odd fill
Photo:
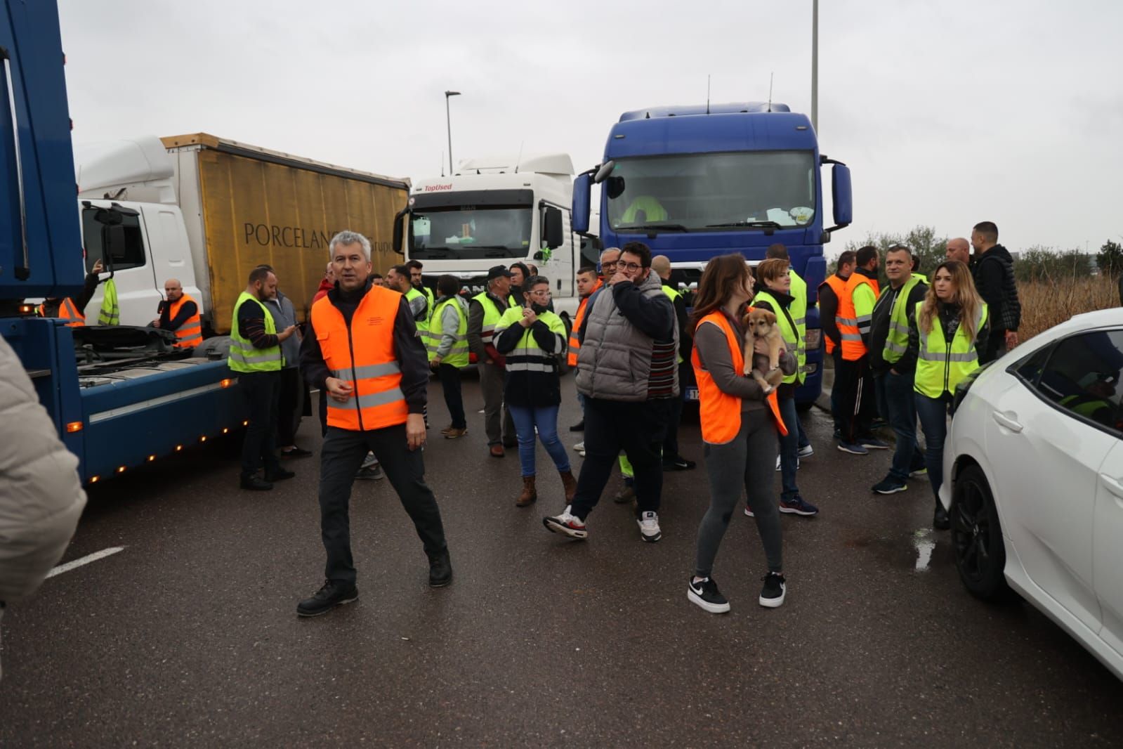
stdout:
POLYGON ((526 257, 530 249, 530 208, 417 209, 410 231, 410 257, 417 259, 481 259, 526 257))

